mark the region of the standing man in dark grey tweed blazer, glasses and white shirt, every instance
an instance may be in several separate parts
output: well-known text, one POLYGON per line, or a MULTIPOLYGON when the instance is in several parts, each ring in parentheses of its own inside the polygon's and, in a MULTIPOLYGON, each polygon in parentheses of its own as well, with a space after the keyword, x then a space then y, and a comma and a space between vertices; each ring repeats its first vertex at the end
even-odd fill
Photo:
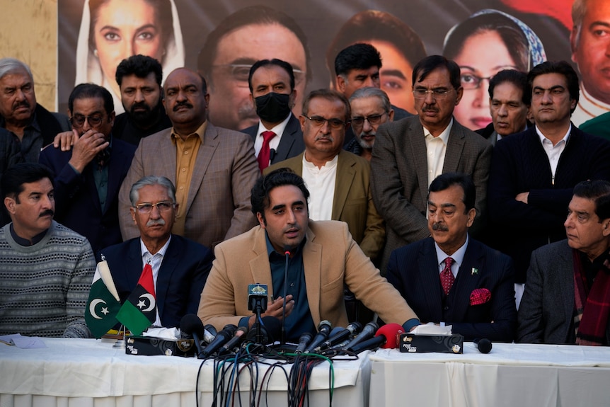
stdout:
POLYGON ((453 120, 464 92, 458 65, 440 55, 425 57, 413 69, 412 84, 418 116, 379 126, 371 160, 373 200, 386 221, 382 272, 394 249, 430 236, 427 191, 441 173, 471 176, 476 187, 474 236, 485 213, 493 147, 453 120))

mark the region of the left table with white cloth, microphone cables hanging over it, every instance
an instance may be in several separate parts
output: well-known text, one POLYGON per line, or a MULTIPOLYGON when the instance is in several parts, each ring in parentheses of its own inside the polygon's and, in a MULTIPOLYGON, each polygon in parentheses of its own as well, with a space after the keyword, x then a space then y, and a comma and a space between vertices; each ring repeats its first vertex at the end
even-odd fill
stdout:
MULTIPOLYGON (((201 361, 194 357, 125 355, 125 349, 94 339, 42 340, 47 348, 0 345, 0 407, 195 406, 201 361)), ((368 358, 335 362, 333 367, 333 404, 366 406, 368 358)), ((212 404, 213 371, 212 361, 205 362, 200 406, 212 404)), ((264 372, 261 366, 259 381, 264 372)), ((249 389, 245 376, 240 375, 241 389, 249 389)), ((278 369, 269 382, 269 405, 285 406, 286 389, 286 378, 278 369)), ((328 362, 313 369, 309 389, 311 406, 328 406, 328 362)), ((247 391, 242 400, 247 405, 247 391)), ((266 405, 264 400, 263 395, 261 406, 266 405)))

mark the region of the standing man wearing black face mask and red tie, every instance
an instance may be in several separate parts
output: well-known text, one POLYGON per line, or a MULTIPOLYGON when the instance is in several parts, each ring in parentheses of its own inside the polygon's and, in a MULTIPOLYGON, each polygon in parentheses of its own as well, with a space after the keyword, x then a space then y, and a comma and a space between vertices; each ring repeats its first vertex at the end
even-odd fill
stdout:
POLYGON ((291 111, 297 96, 294 71, 288 62, 262 59, 252 65, 248 86, 260 122, 242 132, 254 138, 258 166, 263 171, 305 149, 299 120, 291 111))

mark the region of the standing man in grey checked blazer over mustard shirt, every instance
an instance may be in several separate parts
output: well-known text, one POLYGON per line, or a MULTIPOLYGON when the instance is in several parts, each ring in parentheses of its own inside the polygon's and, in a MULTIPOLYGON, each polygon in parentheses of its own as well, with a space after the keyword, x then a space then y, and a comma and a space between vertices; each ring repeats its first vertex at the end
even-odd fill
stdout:
POLYGON ((205 79, 175 69, 165 81, 163 106, 173 127, 145 137, 119 193, 124 240, 139 236, 130 215, 131 185, 144 176, 165 176, 176 186, 173 234, 213 248, 255 225, 250 190, 260 172, 248 134, 206 120, 205 79))

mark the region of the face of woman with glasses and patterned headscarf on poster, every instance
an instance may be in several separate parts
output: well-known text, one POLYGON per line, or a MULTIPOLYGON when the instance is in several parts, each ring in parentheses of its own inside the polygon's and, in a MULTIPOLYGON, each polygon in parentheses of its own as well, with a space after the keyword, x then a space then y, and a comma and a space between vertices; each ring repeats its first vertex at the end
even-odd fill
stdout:
POLYGON ((478 130, 491 122, 489 80, 502 69, 518 69, 497 31, 477 32, 466 39, 455 62, 464 96, 454 110, 456 120, 478 130))

